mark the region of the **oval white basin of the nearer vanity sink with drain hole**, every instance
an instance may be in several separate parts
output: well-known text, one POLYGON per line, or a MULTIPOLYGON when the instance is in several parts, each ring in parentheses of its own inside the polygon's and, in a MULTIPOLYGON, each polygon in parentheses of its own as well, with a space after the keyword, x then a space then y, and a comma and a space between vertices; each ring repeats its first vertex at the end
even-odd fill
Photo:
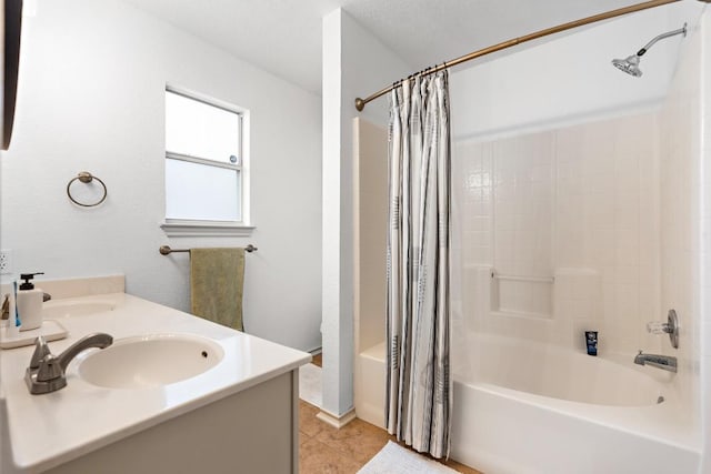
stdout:
POLYGON ((109 389, 180 382, 209 371, 224 356, 216 342, 188 334, 127 337, 84 354, 78 357, 79 375, 93 385, 109 389))

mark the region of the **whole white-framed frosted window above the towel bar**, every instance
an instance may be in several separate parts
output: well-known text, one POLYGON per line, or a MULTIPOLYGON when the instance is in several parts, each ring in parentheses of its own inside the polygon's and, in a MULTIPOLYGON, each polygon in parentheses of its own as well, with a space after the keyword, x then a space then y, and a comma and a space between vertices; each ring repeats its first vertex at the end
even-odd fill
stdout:
POLYGON ((169 235, 244 234, 246 113, 166 88, 166 222, 169 235))

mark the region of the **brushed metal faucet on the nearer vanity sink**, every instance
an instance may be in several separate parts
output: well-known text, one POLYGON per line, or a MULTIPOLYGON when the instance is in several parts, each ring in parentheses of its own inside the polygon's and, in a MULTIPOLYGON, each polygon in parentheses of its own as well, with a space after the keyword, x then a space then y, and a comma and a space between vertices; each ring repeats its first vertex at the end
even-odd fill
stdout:
POLYGON ((34 353, 30 360, 30 366, 24 373, 24 382, 32 395, 56 392, 67 386, 67 366, 79 355, 80 352, 89 347, 104 349, 113 343, 113 337, 104 333, 90 334, 80 339, 64 352, 53 355, 43 336, 34 341, 34 353))

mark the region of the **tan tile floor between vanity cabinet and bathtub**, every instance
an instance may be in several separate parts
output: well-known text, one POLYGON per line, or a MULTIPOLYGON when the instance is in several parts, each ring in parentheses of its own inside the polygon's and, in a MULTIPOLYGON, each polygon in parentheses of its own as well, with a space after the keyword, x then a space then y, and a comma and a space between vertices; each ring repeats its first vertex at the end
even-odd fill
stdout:
MULTIPOLYGON (((385 431, 362 420, 337 430, 316 415, 319 409, 299 401, 299 471, 301 474, 354 474, 389 440, 385 431)), ((463 474, 481 474, 453 461, 444 462, 463 474)))

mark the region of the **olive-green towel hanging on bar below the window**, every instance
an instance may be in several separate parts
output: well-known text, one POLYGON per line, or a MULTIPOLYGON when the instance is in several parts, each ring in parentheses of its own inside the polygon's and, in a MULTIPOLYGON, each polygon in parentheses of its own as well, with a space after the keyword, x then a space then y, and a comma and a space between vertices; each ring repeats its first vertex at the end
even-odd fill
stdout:
POLYGON ((190 249, 192 314, 243 331, 244 249, 190 249))

